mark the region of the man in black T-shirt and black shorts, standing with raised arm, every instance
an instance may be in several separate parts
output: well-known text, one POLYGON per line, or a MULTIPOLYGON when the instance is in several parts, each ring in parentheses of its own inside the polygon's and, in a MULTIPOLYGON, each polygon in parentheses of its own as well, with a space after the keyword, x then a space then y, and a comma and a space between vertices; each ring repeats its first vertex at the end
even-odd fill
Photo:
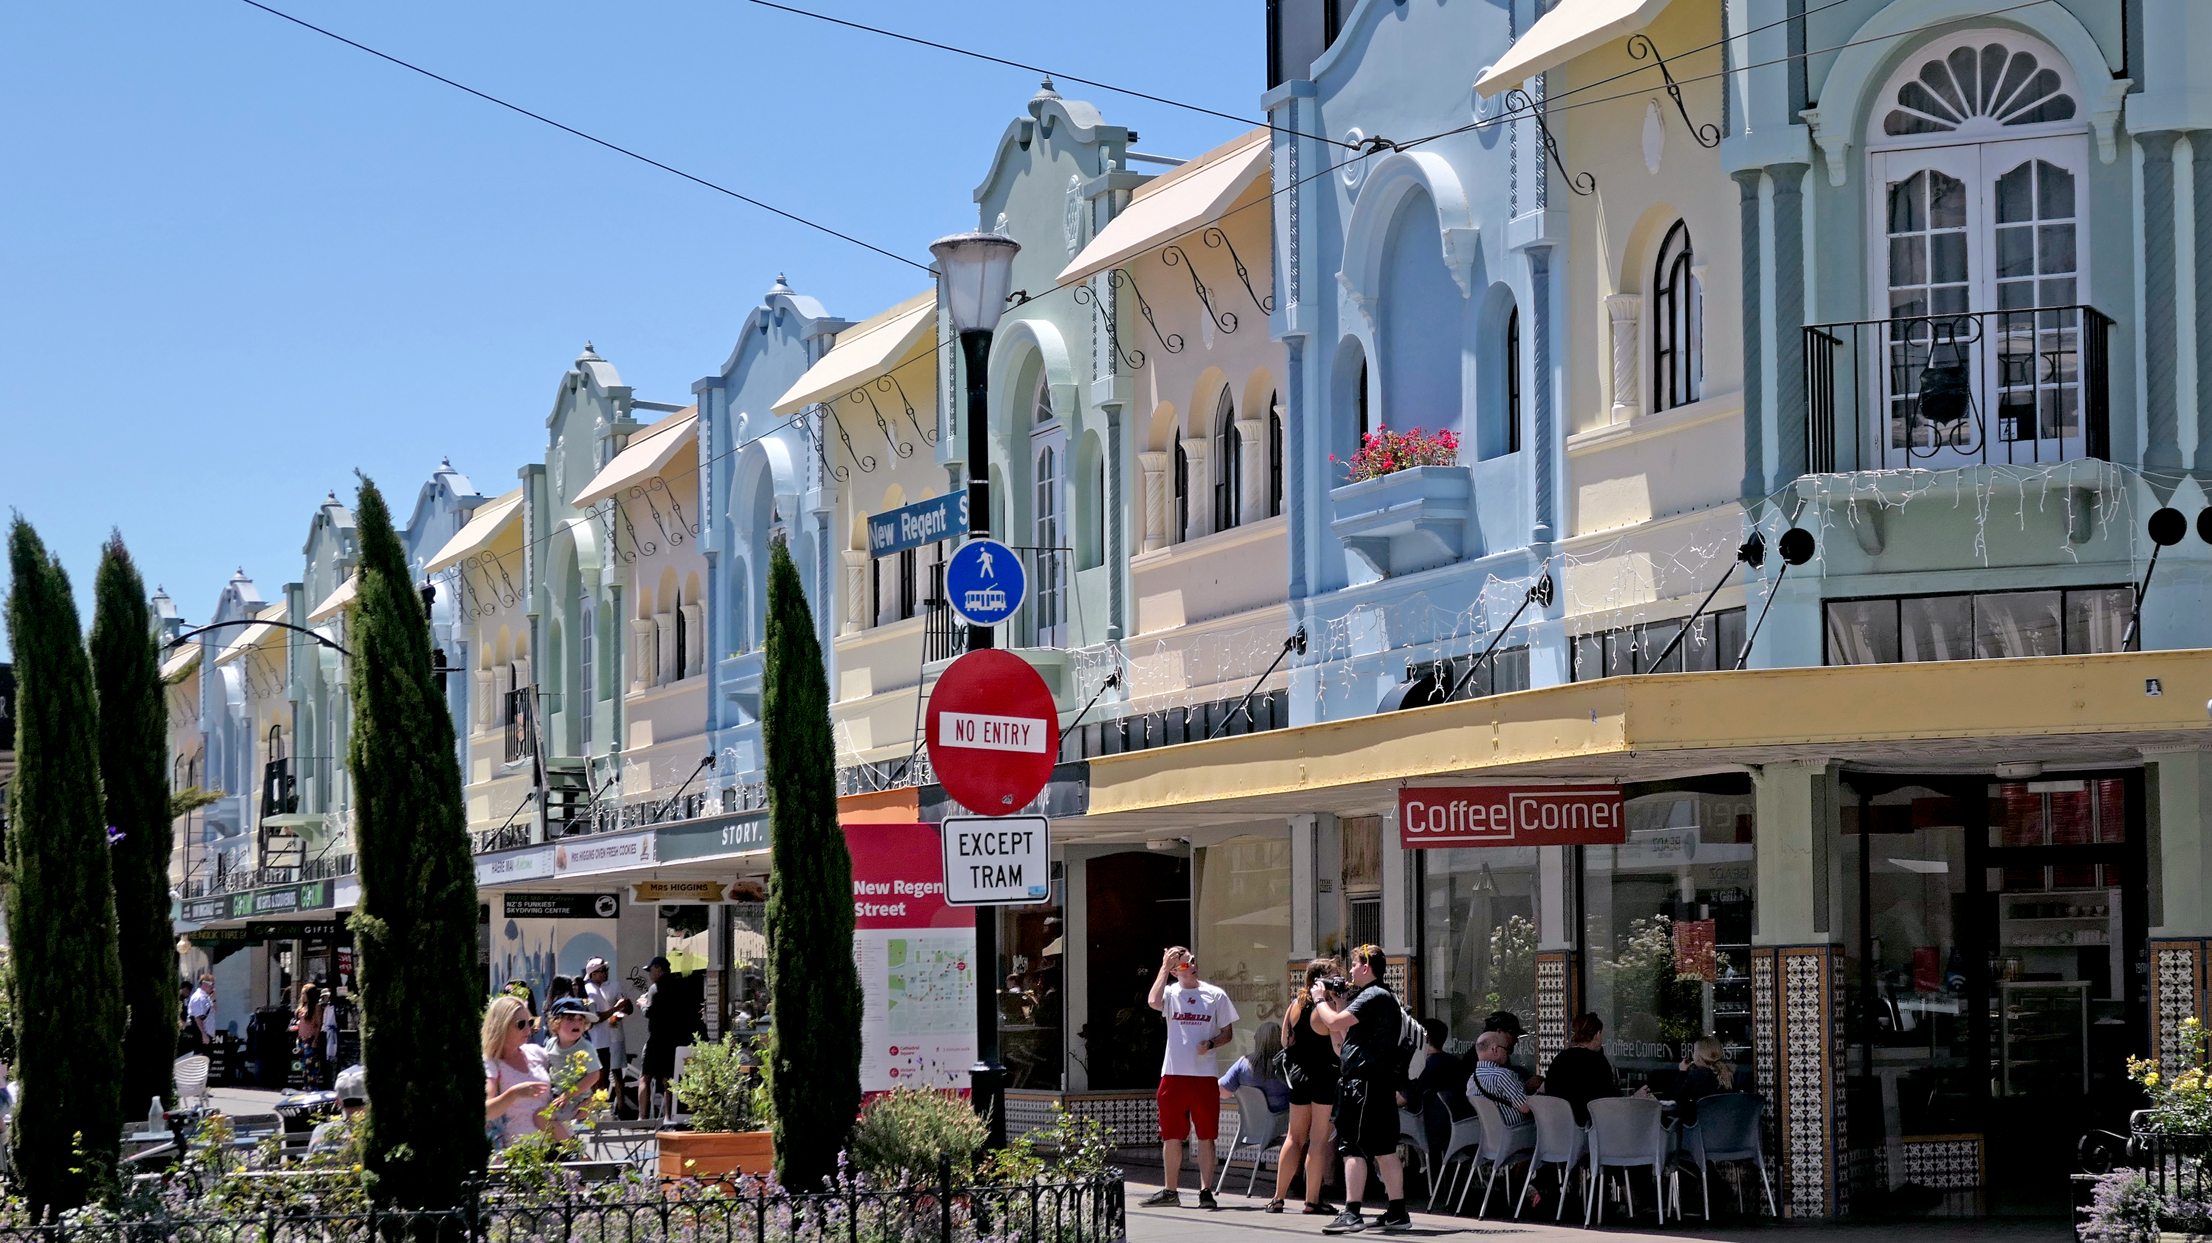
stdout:
POLYGON ((1345 1212, 1321 1228, 1323 1234, 1367 1230, 1360 1199, 1367 1192, 1367 1168, 1383 1174, 1383 1208, 1376 1225, 1398 1234, 1413 1228, 1405 1210, 1405 1166, 1398 1161, 1398 1088, 1405 1084, 1405 1062, 1398 1059, 1398 1031, 1405 1006, 1383 984, 1389 955, 1378 944, 1352 951, 1352 997, 1329 995, 1327 984, 1312 989, 1314 1013, 1345 1042, 1336 1066, 1336 1152, 1345 1159, 1345 1212))

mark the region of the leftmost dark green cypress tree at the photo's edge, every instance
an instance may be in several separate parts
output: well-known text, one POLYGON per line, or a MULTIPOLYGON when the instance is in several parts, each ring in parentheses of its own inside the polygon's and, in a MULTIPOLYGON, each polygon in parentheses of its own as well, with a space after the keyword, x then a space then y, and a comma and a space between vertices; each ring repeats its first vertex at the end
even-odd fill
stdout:
POLYGON ((38 531, 9 526, 7 633, 15 652, 15 779, 0 900, 15 967, 9 1132, 33 1212, 113 1185, 122 1146, 124 995, 100 798, 100 703, 69 573, 38 531))

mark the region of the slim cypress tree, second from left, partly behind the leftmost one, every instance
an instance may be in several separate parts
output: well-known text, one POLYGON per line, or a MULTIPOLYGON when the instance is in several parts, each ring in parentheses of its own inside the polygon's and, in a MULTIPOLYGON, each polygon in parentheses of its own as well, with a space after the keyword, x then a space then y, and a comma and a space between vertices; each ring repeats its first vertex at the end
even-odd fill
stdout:
POLYGON ((100 688, 100 776, 108 827, 119 832, 115 869, 115 953, 122 960, 122 1104, 148 1097, 175 1104, 177 929, 168 922, 168 697, 146 604, 146 579, 131 564, 122 531, 100 551, 93 579, 93 686, 100 688))

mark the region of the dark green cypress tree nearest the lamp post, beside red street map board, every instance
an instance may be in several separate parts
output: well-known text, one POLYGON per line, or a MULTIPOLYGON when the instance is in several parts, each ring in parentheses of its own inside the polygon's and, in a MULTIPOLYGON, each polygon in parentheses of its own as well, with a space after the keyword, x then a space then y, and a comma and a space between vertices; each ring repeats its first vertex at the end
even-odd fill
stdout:
POLYGON ((768 560, 763 661, 776 1177, 816 1190, 836 1174, 860 1110, 860 973, 852 964, 852 854, 836 821, 830 675, 783 542, 768 560))

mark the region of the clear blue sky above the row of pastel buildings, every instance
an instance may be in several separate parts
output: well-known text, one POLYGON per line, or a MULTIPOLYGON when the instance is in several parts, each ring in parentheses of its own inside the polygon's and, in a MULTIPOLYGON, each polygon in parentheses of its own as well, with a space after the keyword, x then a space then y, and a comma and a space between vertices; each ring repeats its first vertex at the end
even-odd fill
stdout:
MULTIPOLYGON (((743 0, 270 2, 920 261, 1037 88, 743 0)), ((1243 117, 1265 86, 1259 0, 812 7, 1243 117)), ((1159 155, 1243 128, 1062 95, 1159 155)), ((239 0, 18 4, 0 117, 0 506, 86 624, 108 526, 201 619, 237 566, 296 579, 356 467, 403 520, 442 456, 511 489, 584 341, 688 403, 779 272, 852 318, 927 281, 239 0)))

